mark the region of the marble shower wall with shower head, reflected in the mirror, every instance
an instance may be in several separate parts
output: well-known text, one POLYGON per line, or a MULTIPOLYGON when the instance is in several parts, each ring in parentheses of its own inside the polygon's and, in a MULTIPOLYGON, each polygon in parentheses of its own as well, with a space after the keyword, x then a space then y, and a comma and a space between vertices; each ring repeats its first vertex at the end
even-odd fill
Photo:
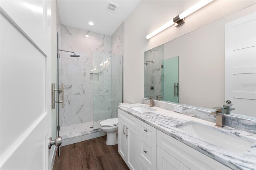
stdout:
POLYGON ((146 62, 146 82, 145 82, 145 96, 153 96, 156 99, 157 95, 162 95, 163 93, 163 74, 162 74, 162 60, 164 60, 164 45, 159 45, 153 49, 150 49, 145 52, 145 61, 146 62), (150 90, 150 87, 153 86, 154 90, 150 90))

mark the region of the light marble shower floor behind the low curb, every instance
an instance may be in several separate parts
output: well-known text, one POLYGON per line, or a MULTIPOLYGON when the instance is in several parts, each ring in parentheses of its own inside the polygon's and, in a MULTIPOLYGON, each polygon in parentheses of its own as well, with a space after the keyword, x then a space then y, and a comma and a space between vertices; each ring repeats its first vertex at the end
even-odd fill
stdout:
POLYGON ((60 127, 60 136, 62 137, 62 139, 68 139, 68 138, 74 138, 77 136, 83 136, 86 134, 101 132, 101 129, 100 129, 101 121, 103 120, 95 121, 95 123, 92 121, 92 122, 60 127), (93 124, 94 124, 94 128, 93 128, 93 124))

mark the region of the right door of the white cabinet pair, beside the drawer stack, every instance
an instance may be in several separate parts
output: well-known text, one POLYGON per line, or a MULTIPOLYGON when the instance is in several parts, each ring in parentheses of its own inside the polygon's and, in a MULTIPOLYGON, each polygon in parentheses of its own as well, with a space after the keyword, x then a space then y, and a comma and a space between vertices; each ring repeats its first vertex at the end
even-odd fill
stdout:
MULTIPOLYGON (((127 125, 127 124, 126 124, 127 125)), ((127 125, 128 160, 126 164, 132 170, 138 169, 138 131, 127 125)))

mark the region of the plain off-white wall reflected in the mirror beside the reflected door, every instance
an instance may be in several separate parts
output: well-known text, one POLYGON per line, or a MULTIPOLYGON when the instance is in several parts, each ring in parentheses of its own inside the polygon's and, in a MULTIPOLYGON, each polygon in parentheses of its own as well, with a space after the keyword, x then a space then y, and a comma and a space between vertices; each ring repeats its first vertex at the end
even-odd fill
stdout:
POLYGON ((250 6, 164 44, 165 59, 179 56, 179 103, 224 104, 225 24, 255 11, 256 5, 250 6))

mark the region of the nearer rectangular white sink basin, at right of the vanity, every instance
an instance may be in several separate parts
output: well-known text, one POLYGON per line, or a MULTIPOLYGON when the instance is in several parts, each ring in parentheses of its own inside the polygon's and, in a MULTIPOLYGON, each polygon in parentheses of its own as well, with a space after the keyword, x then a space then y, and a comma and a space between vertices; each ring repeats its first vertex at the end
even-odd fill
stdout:
POLYGON ((189 123, 178 128, 238 154, 243 154, 253 144, 196 123, 189 123))

